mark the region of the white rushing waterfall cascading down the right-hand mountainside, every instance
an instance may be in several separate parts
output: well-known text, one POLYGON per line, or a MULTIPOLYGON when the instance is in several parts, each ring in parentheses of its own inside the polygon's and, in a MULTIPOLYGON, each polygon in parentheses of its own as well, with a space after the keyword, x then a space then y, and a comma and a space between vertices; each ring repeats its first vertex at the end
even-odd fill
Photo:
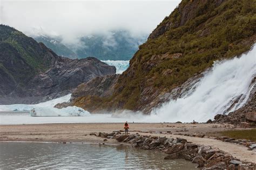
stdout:
POLYGON ((243 106, 256 86, 255 46, 241 57, 214 62, 193 91, 152 111, 150 119, 203 122, 243 106))

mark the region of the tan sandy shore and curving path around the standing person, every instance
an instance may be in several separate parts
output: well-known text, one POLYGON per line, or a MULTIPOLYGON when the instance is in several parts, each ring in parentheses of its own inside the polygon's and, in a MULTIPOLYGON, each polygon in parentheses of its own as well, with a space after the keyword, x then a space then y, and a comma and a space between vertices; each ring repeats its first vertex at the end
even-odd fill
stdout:
MULTIPOLYGON (((245 146, 222 142, 211 138, 187 137, 181 134, 213 133, 231 129, 239 129, 226 124, 130 124, 130 133, 151 136, 166 136, 184 138, 194 144, 218 147, 243 161, 256 162, 256 153, 248 151, 245 146), (161 134, 171 132, 172 134, 161 134)), ((120 144, 114 139, 107 139, 90 135, 93 132, 106 132, 123 130, 120 123, 95 123, 95 124, 37 124, 37 125, 0 125, 0 141, 48 141, 48 142, 105 142, 107 144, 120 144)))

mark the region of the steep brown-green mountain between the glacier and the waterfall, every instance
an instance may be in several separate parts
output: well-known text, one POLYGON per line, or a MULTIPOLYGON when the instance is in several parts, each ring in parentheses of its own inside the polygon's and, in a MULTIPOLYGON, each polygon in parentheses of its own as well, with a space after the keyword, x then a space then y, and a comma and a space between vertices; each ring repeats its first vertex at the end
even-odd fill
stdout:
POLYGON ((255 9, 255 3, 246 0, 181 1, 139 46, 129 68, 117 79, 106 77, 104 89, 111 93, 84 94, 83 90, 97 84, 92 79, 74 92, 71 105, 90 112, 150 113, 177 99, 214 61, 250 50, 256 40, 255 9), (107 89, 107 84, 114 90, 107 89))

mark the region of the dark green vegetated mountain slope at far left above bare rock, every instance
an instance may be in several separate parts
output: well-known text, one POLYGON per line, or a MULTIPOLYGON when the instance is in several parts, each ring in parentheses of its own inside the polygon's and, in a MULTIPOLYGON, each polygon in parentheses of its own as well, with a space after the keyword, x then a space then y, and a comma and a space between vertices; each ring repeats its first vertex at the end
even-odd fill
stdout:
POLYGON ((55 53, 43 44, 10 26, 0 25, 0 76, 8 75, 16 85, 23 86, 35 74, 50 68, 52 56, 55 53))

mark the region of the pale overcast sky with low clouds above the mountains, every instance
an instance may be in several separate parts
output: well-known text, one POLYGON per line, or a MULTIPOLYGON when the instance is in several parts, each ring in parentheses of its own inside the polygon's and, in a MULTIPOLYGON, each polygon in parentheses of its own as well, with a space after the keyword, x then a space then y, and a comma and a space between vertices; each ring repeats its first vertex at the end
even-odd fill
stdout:
POLYGON ((0 0, 0 22, 26 35, 60 35, 66 42, 109 30, 149 34, 179 2, 0 0))

